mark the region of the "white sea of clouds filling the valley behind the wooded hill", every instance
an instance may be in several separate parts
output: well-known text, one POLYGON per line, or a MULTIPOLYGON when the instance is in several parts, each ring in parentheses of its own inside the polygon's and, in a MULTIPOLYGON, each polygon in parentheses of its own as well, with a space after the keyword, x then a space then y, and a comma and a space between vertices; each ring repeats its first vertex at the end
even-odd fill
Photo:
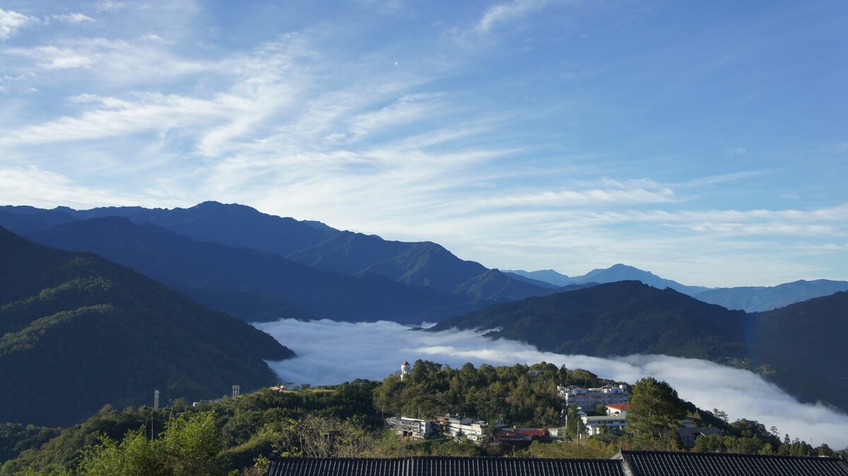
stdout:
POLYGON ((297 353, 269 362, 284 381, 297 384, 339 384, 354 378, 381 380, 398 372, 403 361, 436 361, 451 367, 541 361, 557 367, 583 368, 602 378, 633 384, 653 376, 677 389, 683 400, 705 410, 728 412, 731 421, 756 420, 781 435, 848 447, 848 415, 823 405, 802 404, 753 372, 722 367, 710 361, 669 356, 622 356, 601 359, 540 352, 522 342, 483 337, 478 331, 411 330, 396 322, 302 322, 284 319, 254 324, 297 353))

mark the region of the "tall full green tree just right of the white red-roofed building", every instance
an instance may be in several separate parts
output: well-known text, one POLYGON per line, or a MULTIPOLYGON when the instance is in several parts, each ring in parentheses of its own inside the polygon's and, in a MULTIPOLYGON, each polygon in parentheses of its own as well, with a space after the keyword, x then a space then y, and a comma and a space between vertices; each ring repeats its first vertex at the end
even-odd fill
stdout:
POLYGON ((654 446, 685 415, 677 390, 664 381, 642 378, 630 390, 627 430, 639 445, 654 446))

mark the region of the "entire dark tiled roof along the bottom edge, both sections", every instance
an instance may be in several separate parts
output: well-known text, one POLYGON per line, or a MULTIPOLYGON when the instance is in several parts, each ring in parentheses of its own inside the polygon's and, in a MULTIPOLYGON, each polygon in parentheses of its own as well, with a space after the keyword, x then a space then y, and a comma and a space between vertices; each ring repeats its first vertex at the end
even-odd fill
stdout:
POLYGON ((271 461, 265 476, 848 476, 838 458, 621 451, 612 459, 412 456, 271 461))

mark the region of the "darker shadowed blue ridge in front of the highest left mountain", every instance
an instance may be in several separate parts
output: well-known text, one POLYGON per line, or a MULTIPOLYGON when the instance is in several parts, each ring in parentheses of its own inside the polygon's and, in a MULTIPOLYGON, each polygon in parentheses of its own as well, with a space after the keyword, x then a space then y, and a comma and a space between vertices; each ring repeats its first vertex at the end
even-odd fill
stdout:
POLYGON ((198 242, 153 224, 133 224, 126 217, 73 221, 30 236, 61 249, 92 251, 248 321, 314 316, 420 323, 472 309, 458 294, 407 286, 371 273, 323 272, 280 255, 198 242))

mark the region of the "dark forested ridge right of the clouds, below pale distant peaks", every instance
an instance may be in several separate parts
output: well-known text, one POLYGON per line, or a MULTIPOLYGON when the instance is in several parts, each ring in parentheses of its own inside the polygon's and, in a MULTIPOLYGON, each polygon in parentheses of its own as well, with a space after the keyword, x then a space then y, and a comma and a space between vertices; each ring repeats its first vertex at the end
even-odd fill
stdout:
POLYGON ((845 292, 746 313, 672 288, 619 281, 493 305, 431 329, 450 328, 491 329, 493 339, 561 354, 661 354, 742 365, 801 400, 848 410, 845 292))

